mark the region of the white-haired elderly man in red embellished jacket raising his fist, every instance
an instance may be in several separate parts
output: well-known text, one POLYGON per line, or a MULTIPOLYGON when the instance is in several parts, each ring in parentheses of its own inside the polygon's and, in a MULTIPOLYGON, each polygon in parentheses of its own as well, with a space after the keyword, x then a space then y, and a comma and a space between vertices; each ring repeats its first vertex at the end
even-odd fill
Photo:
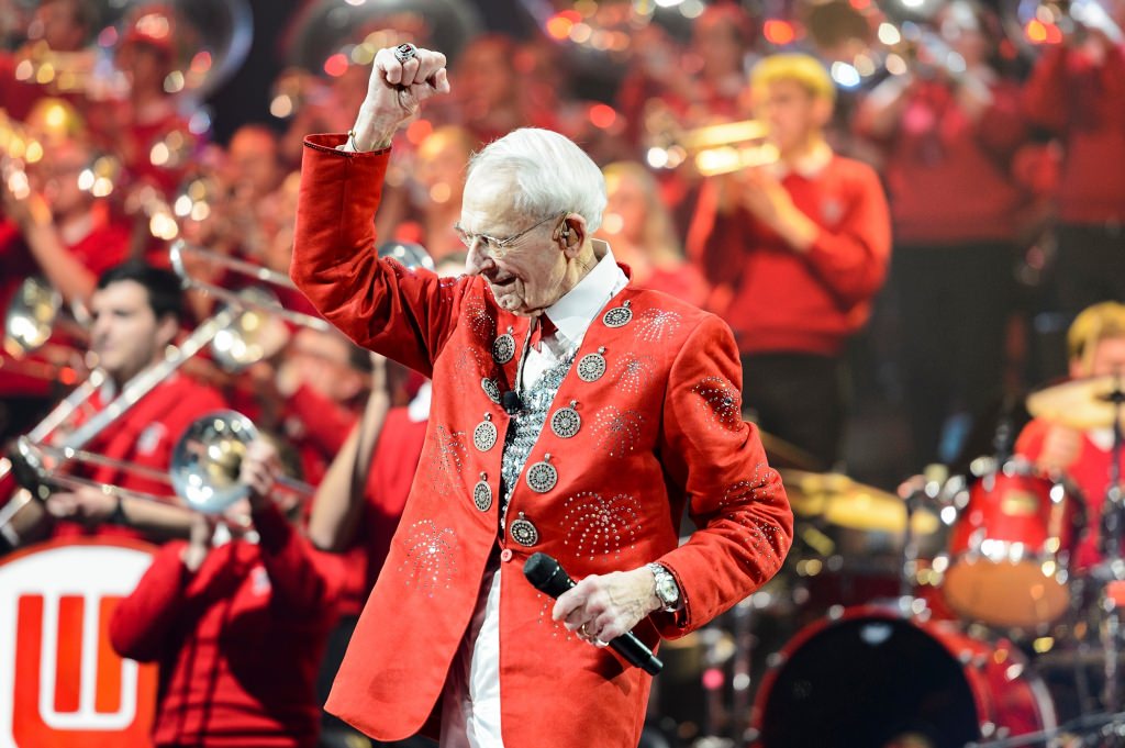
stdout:
POLYGON ((392 134, 449 90, 444 65, 379 52, 354 129, 306 142, 294 280, 433 380, 421 468, 326 709, 381 740, 632 747, 649 679, 604 642, 656 646, 742 600, 781 566, 792 514, 741 420, 730 330, 630 286, 592 238, 605 187, 570 141, 520 129, 472 160, 466 276, 377 258, 392 134), (681 544, 685 504, 699 530, 681 544), (522 574, 537 551, 580 579, 557 602, 522 574))

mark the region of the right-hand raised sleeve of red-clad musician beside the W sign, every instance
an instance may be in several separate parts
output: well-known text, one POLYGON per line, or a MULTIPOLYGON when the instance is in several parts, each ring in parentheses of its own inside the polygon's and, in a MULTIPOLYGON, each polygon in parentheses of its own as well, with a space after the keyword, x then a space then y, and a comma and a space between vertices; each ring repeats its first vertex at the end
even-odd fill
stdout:
POLYGON ((286 613, 315 615, 335 604, 340 577, 330 562, 290 523, 272 502, 252 513, 260 535, 262 564, 270 577, 274 602, 286 613))

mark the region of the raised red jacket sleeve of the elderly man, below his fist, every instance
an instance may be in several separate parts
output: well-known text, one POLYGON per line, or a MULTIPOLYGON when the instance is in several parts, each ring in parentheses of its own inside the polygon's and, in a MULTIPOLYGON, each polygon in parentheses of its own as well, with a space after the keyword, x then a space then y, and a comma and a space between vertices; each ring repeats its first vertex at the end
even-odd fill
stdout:
POLYGON ((390 150, 344 153, 345 135, 305 141, 289 274, 358 345, 432 376, 471 279, 439 279, 376 254, 375 211, 390 150))

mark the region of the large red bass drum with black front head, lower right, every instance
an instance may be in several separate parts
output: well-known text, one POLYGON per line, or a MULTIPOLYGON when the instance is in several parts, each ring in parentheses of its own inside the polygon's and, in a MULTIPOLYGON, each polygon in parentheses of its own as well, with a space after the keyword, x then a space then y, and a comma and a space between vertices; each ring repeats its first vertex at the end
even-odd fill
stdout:
POLYGON ((950 621, 853 607, 775 659, 752 714, 762 748, 962 748, 1056 727, 1022 652, 950 621))

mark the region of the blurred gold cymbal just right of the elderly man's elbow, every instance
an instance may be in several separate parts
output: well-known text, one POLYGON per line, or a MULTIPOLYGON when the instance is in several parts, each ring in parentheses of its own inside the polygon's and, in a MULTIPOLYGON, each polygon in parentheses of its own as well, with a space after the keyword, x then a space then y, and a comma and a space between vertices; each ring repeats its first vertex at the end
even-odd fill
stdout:
MULTIPOLYGON (((902 533, 907 524, 906 502, 894 494, 865 486, 839 472, 781 470, 782 483, 794 514, 822 516, 829 524, 852 530, 902 533)), ((927 510, 918 510, 911 529, 918 535, 937 532, 940 522, 927 510)))

